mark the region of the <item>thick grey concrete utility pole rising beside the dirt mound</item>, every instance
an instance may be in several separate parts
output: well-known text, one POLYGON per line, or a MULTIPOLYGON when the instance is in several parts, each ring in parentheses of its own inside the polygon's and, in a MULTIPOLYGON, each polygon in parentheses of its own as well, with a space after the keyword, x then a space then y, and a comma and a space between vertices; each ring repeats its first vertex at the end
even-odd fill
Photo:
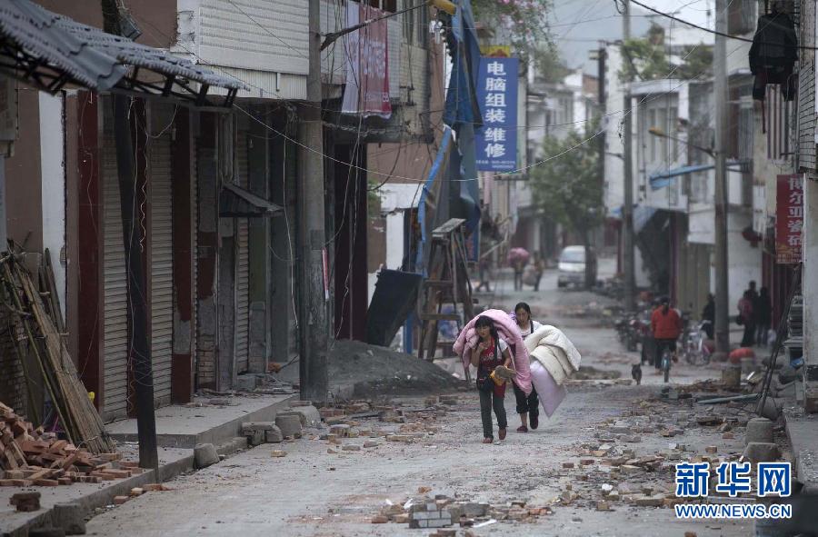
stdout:
POLYGON ((324 126, 321 121, 321 1, 309 0, 310 69, 307 75, 307 104, 301 107, 298 124, 299 240, 301 241, 298 285, 300 310, 299 374, 302 399, 325 402, 327 340, 329 337, 328 295, 324 287, 324 126), (317 152, 317 153, 315 153, 317 152))

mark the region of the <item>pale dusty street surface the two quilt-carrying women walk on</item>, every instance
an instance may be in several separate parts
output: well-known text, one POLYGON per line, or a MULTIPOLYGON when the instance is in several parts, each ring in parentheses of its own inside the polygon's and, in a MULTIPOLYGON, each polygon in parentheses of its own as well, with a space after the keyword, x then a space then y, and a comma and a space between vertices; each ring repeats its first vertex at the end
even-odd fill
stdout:
MULTIPOLYGON (((638 360, 638 355, 623 353, 613 329, 600 319, 571 315, 580 306, 599 303, 599 296, 557 291, 553 271, 546 273, 540 293, 510 292, 504 285, 500 283, 493 305, 513 307, 512 302, 530 301, 535 317, 539 312, 545 323, 564 327, 583 353, 584 366, 630 379, 631 363, 638 360)), ((690 384, 717 374, 714 369, 679 364, 673 369, 672 382, 690 384)), ((417 429, 427 434, 411 442, 385 441, 378 433, 396 432, 400 425, 377 418, 363 419, 354 427, 378 436, 366 439, 374 442, 366 445, 374 447, 360 451, 344 451, 342 446, 318 440, 326 430, 308 431, 300 440, 265 444, 165 483, 169 491, 145 494, 96 516, 88 524, 88 533, 426 535, 429 530, 412 530, 406 523, 372 523, 388 502, 404 503, 423 496, 418 493, 423 491, 432 498, 444 494, 457 502, 487 502, 493 506, 524 502, 526 509, 551 510, 548 514, 525 516, 522 521, 504 520, 476 528, 472 530, 474 535, 749 534, 752 522, 686 522, 666 507, 612 501, 611 511, 598 509, 606 483, 621 496, 672 495, 673 473, 667 469, 672 462, 663 463, 656 472, 637 468, 632 475, 622 476, 612 473, 613 466, 606 465, 604 457, 585 466, 585 449, 595 450, 601 443, 610 443, 612 455, 631 449, 632 459, 672 451, 669 443, 684 444, 689 455, 704 454, 709 445, 719 445, 720 455, 742 450, 741 435, 736 435, 735 440, 723 440, 715 428, 696 427, 694 423, 674 438, 663 437, 663 420, 673 422, 673 412, 696 409, 657 401, 640 405, 657 395, 659 383, 661 377, 646 368, 642 386, 620 385, 613 380, 575 383, 554 417, 543 419, 540 428, 530 433, 514 431, 519 421, 514 414, 514 396, 508 393, 508 437, 488 446, 480 443, 479 403, 474 391, 457 393, 456 404, 437 405, 437 411, 427 413, 429 421, 417 429), (631 411, 641 411, 642 416, 623 418, 638 413, 631 411), (610 429, 602 426, 622 419, 636 424, 630 438, 609 434, 610 429), (613 440, 616 437, 630 442, 613 440), (271 450, 275 449, 284 450, 286 456, 272 456, 271 450), (568 462, 573 462, 574 467, 564 468, 571 466, 564 464, 568 462)), ((405 409, 426 406, 424 398, 392 403, 405 409)), ((345 438, 343 444, 364 446, 364 438, 345 438)), ((458 529, 458 534, 463 532, 458 529)))

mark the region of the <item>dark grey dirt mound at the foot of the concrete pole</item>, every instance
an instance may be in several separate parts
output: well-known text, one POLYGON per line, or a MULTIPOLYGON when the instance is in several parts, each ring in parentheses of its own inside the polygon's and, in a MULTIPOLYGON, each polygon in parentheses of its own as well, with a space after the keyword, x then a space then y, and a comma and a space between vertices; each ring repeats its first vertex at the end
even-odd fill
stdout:
POLYGON ((353 384, 354 397, 414 395, 461 390, 466 383, 411 354, 362 342, 336 342, 329 355, 330 383, 353 384))

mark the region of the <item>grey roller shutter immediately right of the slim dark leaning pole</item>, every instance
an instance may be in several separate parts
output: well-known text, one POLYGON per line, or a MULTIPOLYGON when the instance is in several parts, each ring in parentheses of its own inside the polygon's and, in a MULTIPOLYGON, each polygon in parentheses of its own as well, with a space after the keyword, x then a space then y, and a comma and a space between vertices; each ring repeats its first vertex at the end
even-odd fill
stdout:
POLYGON ((170 134, 151 140, 150 300, 151 362, 155 405, 171 401, 174 339, 173 194, 170 134))

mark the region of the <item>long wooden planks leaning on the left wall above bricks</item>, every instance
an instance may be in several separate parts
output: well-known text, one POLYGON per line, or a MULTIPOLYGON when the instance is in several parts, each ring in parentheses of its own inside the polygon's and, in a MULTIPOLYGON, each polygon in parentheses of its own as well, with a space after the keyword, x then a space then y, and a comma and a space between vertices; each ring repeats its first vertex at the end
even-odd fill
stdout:
MULTIPOLYGON (((46 265, 46 286, 50 281, 49 268, 46 265)), ((57 316, 55 322, 55 318, 49 314, 51 312, 56 316, 59 311, 55 293, 41 293, 31 274, 16 261, 14 254, 0 260, 0 292, 5 294, 5 302, 9 303, 16 322, 23 328, 29 352, 34 355, 34 362, 43 376, 69 442, 82 445, 93 453, 113 452, 114 443, 105 433, 102 419, 68 355, 65 338, 57 326, 62 319, 57 316), (43 300, 44 294, 50 303, 48 307, 43 300)))

